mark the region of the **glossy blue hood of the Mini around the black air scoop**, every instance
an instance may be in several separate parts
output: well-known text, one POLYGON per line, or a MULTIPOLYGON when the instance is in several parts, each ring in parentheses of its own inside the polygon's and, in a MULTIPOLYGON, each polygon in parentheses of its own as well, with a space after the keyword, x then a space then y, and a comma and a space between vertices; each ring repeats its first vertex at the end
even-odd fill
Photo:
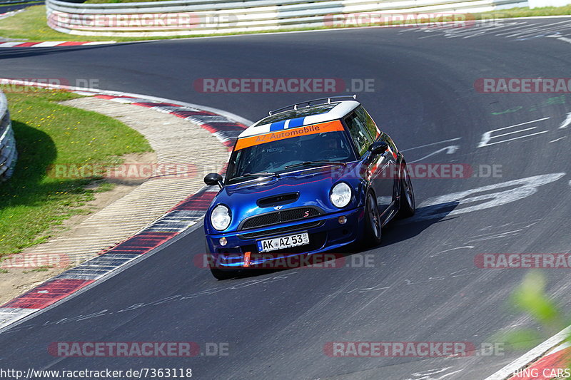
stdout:
MULTIPOLYGON (((318 207, 325 213, 338 212, 329 199, 330 190, 340 181, 348 183, 353 188, 353 200, 347 209, 357 206, 361 178, 358 173, 358 163, 348 163, 346 166, 328 165, 320 168, 303 169, 293 173, 285 173, 279 178, 268 177, 259 180, 226 185, 214 198, 211 207, 206 213, 210 217, 213 207, 218 204, 226 205, 231 210, 231 225, 223 232, 238 230, 238 226, 248 217, 253 217, 266 212, 287 210, 295 207, 318 207), (288 203, 270 203, 263 207, 258 205, 258 200, 278 195, 298 193, 295 200, 288 203)), ((209 224, 209 223, 208 223, 209 224)), ((211 230, 216 232, 216 230, 211 230)))

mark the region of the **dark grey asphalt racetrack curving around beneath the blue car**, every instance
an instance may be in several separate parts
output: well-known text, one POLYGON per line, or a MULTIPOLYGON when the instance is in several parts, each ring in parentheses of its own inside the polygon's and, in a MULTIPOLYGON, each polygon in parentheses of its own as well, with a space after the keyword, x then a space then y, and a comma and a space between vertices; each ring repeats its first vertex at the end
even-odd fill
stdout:
MULTIPOLYGON (((321 94, 201 93, 196 81, 373 80, 368 83, 374 91, 359 92, 358 100, 408 163, 460 163, 475 174, 413 178, 417 215, 391 222, 382 245, 348 256, 349 267, 216 281, 208 269, 193 265, 204 247, 199 228, 2 332, 0 366, 191 368, 196 379, 484 379, 525 350, 455 358, 330 357, 324 347, 471 342, 480 350, 497 332, 535 327, 507 305, 525 269, 482 269, 475 257, 570 252, 571 125, 565 120, 571 94, 479 93, 475 82, 571 76, 571 44, 560 38, 568 28, 571 19, 555 18, 463 31, 351 29, 0 48, 4 78, 65 78, 72 86, 87 80, 98 88, 197 103, 250 120, 321 94), (373 265, 359 265, 364 257, 372 257, 373 265), (181 341, 198 342, 202 349, 226 344, 228 355, 64 358, 48 352, 53 342, 181 341)), ((547 292, 567 313, 568 271, 544 271, 547 292)))

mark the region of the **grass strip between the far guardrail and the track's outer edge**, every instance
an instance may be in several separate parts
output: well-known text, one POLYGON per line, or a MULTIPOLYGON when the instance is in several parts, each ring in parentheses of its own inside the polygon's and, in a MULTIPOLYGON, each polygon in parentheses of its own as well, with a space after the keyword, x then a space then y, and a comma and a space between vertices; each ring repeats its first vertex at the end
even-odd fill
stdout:
MULTIPOLYGON (((117 0, 89 0, 87 2, 131 2, 117 0)), ((137 0, 138 1, 138 0, 137 0)), ((157 1, 157 0, 151 0, 157 1)), ((443 12, 446 14, 446 12, 443 12)), ((547 6, 545 8, 512 8, 503 9, 501 11, 490 11, 480 14, 474 14, 475 19, 502 19, 510 17, 527 17, 527 16, 562 16, 571 14, 571 5, 568 6, 547 6)), ((307 31, 319 29, 332 29, 328 27, 302 28, 302 29, 281 29, 279 31, 307 31)), ((260 34, 272 33, 274 31, 258 31, 258 32, 241 32, 216 34, 216 36, 227 36, 235 34, 260 34)), ((145 41, 149 39, 172 39, 172 38, 188 38, 208 36, 206 34, 196 36, 157 36, 157 37, 116 37, 116 36, 76 36, 74 34, 65 34, 49 28, 46 24, 46 6, 30 6, 25 11, 0 20, 0 37, 15 38, 26 41, 145 41)))

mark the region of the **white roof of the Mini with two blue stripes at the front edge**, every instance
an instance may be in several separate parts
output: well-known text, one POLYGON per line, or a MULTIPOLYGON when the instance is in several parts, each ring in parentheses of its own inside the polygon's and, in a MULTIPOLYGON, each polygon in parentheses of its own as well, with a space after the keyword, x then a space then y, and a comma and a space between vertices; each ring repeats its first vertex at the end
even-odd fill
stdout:
POLYGON ((283 111, 258 120, 258 122, 240 133, 238 138, 337 120, 345 117, 345 115, 353 111, 358 106, 360 106, 358 101, 338 101, 316 104, 311 107, 300 107, 297 110, 283 111), (312 111, 316 111, 318 113, 311 114, 312 111), (303 115, 304 113, 307 115, 303 115))

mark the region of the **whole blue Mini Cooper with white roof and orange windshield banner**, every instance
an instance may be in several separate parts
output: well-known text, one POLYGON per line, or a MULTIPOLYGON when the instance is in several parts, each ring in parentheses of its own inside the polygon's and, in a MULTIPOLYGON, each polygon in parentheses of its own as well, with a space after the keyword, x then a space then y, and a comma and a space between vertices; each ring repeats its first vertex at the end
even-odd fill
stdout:
POLYGON ((206 212, 208 266, 217 279, 284 257, 380 244, 381 227, 415 212, 405 159, 349 97, 270 112, 238 136, 206 212))

